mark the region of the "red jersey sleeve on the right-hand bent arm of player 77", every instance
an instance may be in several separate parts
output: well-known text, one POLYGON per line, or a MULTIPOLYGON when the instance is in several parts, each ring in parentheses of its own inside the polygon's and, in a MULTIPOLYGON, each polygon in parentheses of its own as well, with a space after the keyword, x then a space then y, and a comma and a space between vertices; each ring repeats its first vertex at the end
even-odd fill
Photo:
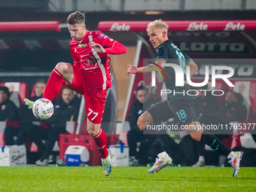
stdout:
POLYGON ((99 44, 105 48, 105 53, 110 54, 121 54, 126 53, 126 47, 123 44, 120 44, 118 41, 115 41, 112 38, 109 38, 107 35, 102 32, 97 32, 99 38, 99 44))

